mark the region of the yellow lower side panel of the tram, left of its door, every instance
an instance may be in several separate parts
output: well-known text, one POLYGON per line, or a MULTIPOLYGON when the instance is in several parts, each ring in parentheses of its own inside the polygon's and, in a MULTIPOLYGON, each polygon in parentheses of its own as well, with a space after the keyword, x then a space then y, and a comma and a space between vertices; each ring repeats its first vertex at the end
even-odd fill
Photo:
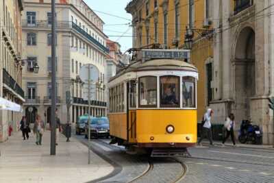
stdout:
POLYGON ((110 113, 110 135, 127 140, 127 114, 110 113))

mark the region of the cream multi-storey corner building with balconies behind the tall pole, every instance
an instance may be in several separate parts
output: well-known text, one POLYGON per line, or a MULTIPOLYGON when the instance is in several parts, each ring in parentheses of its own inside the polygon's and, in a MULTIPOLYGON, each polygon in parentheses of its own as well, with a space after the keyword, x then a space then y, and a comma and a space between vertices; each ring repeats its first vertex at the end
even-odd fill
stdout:
MULTIPOLYGON (((51 105, 51 1, 27 0, 23 12, 23 54, 27 67, 23 70, 25 89, 25 115, 34 122, 36 114, 50 120, 51 105), (33 65, 40 66, 38 74, 33 65)), ((76 122, 77 117, 88 113, 88 101, 79 71, 84 64, 95 64, 99 69, 99 80, 94 86, 92 116, 104 116, 105 57, 108 55, 103 21, 84 1, 56 2, 56 82, 57 108, 62 123, 76 122), (71 106, 66 97, 71 95, 71 106), (69 108, 68 108, 69 107, 69 108), (69 112, 69 114, 68 114, 69 112)))

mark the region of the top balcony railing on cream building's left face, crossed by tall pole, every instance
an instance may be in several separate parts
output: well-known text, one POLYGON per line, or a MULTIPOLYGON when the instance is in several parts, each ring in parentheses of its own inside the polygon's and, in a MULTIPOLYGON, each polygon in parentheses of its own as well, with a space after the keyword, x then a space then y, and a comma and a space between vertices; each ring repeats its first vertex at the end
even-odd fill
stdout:
MULTIPOLYGON (((27 20, 22 21, 22 27, 34 27, 34 28, 51 28, 49 21, 35 21, 35 23, 27 23, 27 20)), ((55 27, 57 29, 71 28, 71 22, 69 21, 56 21, 55 27)))

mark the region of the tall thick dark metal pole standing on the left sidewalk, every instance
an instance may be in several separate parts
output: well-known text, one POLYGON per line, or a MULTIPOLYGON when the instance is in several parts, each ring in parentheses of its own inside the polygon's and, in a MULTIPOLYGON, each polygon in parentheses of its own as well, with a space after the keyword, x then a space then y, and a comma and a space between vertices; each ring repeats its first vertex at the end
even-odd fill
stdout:
POLYGON ((55 0, 51 0, 51 155, 56 154, 55 149, 55 108, 56 108, 56 65, 55 65, 55 0))

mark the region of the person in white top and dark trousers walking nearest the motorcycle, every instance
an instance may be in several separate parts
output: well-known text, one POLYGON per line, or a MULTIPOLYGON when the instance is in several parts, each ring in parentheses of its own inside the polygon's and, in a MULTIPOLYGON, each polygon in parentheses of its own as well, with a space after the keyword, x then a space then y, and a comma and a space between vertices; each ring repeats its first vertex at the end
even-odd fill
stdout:
POLYGON ((225 141, 227 141, 227 138, 229 138, 229 136, 231 136, 232 138, 232 143, 233 145, 236 145, 235 143, 235 138, 234 138, 234 129, 235 129, 235 117, 234 114, 231 113, 229 114, 229 116, 227 117, 227 120, 225 121, 225 132, 226 132, 226 136, 225 138, 223 138, 223 146, 225 146, 225 141))

